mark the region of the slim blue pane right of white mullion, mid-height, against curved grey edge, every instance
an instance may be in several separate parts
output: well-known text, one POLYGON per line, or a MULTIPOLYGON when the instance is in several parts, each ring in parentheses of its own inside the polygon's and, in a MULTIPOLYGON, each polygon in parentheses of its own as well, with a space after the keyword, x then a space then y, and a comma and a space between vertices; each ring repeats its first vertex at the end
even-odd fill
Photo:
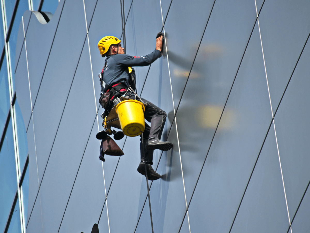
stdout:
POLYGON ((18 151, 20 157, 20 170, 23 170, 24 163, 28 154, 28 143, 27 134, 23 116, 20 111, 20 107, 16 100, 15 102, 15 114, 16 114, 16 124, 17 124, 17 137, 18 137, 18 151))

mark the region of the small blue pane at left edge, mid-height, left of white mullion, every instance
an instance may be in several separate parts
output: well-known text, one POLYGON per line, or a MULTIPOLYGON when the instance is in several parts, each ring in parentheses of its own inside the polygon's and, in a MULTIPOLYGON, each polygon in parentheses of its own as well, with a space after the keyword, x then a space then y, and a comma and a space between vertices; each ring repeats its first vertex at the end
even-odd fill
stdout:
POLYGON ((7 59, 4 56, 0 71, 0 132, 3 130, 10 109, 9 84, 7 78, 7 59))

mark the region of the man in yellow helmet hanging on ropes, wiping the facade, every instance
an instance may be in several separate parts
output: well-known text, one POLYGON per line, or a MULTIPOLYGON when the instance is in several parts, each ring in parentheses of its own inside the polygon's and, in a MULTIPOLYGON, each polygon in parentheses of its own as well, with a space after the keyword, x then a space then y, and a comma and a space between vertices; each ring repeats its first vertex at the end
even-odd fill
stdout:
MULTIPOLYGON (((121 41, 114 36, 106 36, 99 41, 98 48, 101 56, 107 56, 101 72, 101 78, 105 83, 105 87, 101 94, 110 93, 110 100, 107 107, 105 107, 105 114, 111 111, 114 105, 113 99, 119 98, 125 94, 126 91, 128 91, 128 87, 135 90, 135 70, 132 66, 148 66, 162 56, 162 38, 161 33, 157 34, 156 49, 144 57, 133 57, 125 54, 121 41)), ((132 96, 136 98, 135 95, 132 96)), ((142 135, 140 135, 141 162, 137 170, 145 176, 146 164, 148 180, 157 180, 161 178, 161 175, 155 172, 151 166, 153 165, 153 150, 160 149, 162 151, 167 151, 172 148, 171 142, 163 142, 160 140, 167 115, 165 111, 153 103, 144 98, 141 99, 144 103, 147 103, 144 111, 144 118, 148 122, 151 122, 151 126, 145 122, 145 130, 142 134, 143 139, 142 135)))

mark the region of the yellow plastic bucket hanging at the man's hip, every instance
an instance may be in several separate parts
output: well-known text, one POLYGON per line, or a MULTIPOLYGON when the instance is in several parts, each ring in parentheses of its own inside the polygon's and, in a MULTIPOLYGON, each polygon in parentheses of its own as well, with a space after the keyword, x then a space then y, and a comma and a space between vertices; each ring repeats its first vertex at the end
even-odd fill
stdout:
POLYGON ((117 104, 116 112, 125 135, 135 137, 143 133, 145 126, 143 103, 135 99, 125 100, 117 104))

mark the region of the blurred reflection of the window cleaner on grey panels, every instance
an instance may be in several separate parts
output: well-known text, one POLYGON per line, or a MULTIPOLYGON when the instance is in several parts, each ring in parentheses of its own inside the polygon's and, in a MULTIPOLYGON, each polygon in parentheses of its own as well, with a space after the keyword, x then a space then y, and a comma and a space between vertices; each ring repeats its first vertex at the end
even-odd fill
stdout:
MULTIPOLYGON (((186 80, 193 62, 187 57, 195 56, 197 44, 193 44, 188 49, 188 56, 181 56, 171 51, 168 52, 169 62, 173 62, 177 68, 173 70, 173 75, 177 79, 186 80)), ((165 53, 166 55, 166 53, 165 53)), ((182 97, 182 104, 177 110, 177 124, 179 132, 179 143, 181 151, 197 150, 199 145, 205 143, 203 135, 212 134, 219 123, 219 118, 223 111, 223 104, 212 99, 212 93, 216 89, 219 93, 224 93, 227 85, 218 83, 216 86, 207 85, 207 80, 217 78, 218 75, 210 74, 208 67, 212 61, 216 61, 224 56, 224 47, 219 43, 209 43, 200 46, 186 91, 182 97), (210 77, 209 77, 210 74, 210 77), (188 94, 190 93, 190 94, 188 94), (188 140, 188 138, 192 140, 188 140)), ((213 64, 212 64, 213 65, 213 64)), ((183 82, 175 82, 174 85, 183 85, 183 82)), ((183 89, 181 86, 176 89, 183 89)), ((177 106, 178 103, 175 103, 177 106)), ((168 119, 173 121, 174 113, 169 112, 168 119)), ((235 111, 226 109, 221 118, 221 130, 230 130, 235 121, 235 111)))

